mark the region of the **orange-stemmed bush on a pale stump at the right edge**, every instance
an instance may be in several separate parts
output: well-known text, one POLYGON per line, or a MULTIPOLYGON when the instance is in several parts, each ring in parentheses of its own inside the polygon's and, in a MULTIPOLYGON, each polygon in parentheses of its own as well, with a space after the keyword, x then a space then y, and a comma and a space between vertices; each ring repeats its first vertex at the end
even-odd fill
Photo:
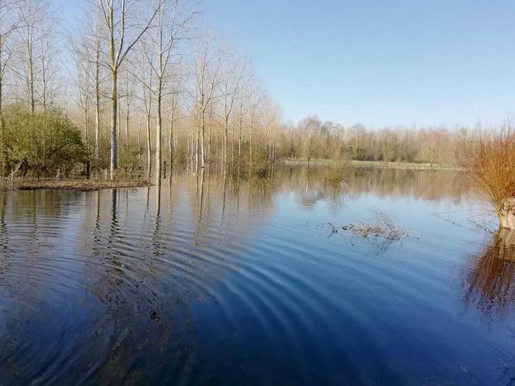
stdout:
POLYGON ((511 121, 479 134, 470 171, 494 206, 499 227, 515 229, 515 130, 511 121))

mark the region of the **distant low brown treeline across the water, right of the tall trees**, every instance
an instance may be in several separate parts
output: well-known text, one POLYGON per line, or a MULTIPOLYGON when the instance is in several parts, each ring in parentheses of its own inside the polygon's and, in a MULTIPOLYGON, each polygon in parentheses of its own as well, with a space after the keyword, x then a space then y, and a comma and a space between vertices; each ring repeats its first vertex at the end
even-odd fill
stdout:
POLYGON ((308 116, 296 127, 281 133, 280 156, 303 159, 332 159, 343 152, 355 161, 410 162, 463 165, 469 158, 473 130, 461 128, 383 128, 363 125, 344 127, 308 116))

